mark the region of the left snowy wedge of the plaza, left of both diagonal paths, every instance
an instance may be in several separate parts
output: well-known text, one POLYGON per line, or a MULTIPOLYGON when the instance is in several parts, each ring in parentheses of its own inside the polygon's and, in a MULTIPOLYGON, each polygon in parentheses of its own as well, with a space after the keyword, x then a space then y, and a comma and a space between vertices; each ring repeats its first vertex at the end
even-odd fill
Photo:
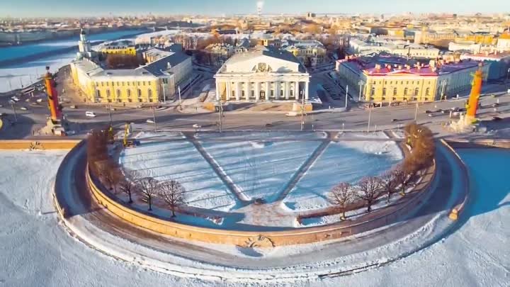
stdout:
POLYGON ((159 181, 179 181, 186 189, 189 206, 222 211, 235 206, 236 201, 227 186, 182 135, 171 133, 152 137, 152 134, 146 133, 139 138, 140 146, 126 149, 120 154, 120 164, 125 169, 140 171, 142 176, 152 176, 159 181), (144 140, 143 137, 149 139, 144 140))

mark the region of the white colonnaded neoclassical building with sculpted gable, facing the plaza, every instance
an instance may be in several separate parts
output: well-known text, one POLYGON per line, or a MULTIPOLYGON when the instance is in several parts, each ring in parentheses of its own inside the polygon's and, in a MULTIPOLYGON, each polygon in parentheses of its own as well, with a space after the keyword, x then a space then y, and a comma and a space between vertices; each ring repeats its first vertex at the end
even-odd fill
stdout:
POLYGON ((310 74, 290 52, 272 47, 232 56, 215 79, 217 101, 308 100, 310 74))

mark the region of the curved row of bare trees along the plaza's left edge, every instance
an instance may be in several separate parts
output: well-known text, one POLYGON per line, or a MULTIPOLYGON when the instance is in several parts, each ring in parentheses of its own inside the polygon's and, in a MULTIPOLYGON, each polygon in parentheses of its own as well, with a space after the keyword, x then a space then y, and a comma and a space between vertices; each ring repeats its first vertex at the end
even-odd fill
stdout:
POLYGON ((185 203, 185 189, 179 181, 157 181, 152 177, 143 177, 137 171, 123 171, 120 166, 108 154, 108 132, 106 130, 94 130, 87 140, 87 161, 91 174, 106 184, 108 188, 117 194, 118 191, 128 196, 128 203, 133 202, 133 195, 140 193, 142 201, 145 201, 149 210, 152 210, 154 198, 161 198, 164 204, 171 210, 172 217, 175 211, 185 203))

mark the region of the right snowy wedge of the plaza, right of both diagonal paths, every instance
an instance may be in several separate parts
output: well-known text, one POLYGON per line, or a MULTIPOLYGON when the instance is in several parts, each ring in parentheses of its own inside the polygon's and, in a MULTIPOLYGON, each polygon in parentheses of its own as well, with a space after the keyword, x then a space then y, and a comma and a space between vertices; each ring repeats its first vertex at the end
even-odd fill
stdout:
POLYGON ((382 174, 401 160, 402 152, 392 141, 331 142, 283 202, 291 210, 324 208, 335 184, 356 184, 363 176, 382 174))

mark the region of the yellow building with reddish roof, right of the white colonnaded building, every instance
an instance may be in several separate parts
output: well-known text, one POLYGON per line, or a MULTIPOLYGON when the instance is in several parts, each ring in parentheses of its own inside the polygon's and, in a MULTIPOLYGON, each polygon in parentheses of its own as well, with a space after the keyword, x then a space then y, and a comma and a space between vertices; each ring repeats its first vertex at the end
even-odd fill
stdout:
POLYGON ((407 64, 400 57, 348 57, 336 63, 339 77, 359 99, 373 103, 431 102, 469 89, 475 61, 407 64))

